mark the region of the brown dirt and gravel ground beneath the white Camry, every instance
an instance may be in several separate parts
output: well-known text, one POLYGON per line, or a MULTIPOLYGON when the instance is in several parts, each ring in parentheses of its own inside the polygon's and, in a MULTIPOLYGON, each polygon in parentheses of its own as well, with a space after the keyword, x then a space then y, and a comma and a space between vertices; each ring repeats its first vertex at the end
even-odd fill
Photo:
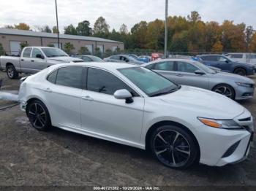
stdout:
MULTIPOLYGON (((17 79, 0 71, 1 78, 4 90, 18 90, 17 79)), ((256 117, 256 98, 239 103, 256 117)), ((34 130, 18 106, 0 111, 0 186, 256 186, 255 160, 254 147, 242 163, 177 171, 140 149, 59 128, 34 130)))

